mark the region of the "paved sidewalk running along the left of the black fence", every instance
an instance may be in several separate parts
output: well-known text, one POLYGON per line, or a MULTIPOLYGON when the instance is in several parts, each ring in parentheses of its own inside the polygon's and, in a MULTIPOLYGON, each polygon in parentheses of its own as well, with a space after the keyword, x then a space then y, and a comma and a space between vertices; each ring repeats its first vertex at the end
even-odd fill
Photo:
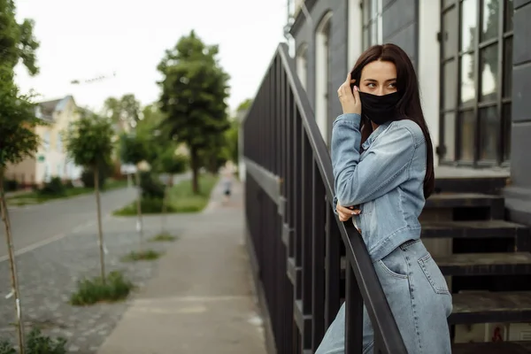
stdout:
POLYGON ((184 229, 180 239, 99 354, 266 353, 242 244, 241 184, 228 202, 218 185, 209 207, 183 221, 168 219, 184 229))

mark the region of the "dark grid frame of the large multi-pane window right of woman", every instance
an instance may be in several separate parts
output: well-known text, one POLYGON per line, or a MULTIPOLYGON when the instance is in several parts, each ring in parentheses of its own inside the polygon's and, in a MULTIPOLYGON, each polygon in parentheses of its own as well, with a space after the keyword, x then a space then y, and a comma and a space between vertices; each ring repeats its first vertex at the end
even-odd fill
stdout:
MULTIPOLYGON (((506 0, 495 0, 498 2, 498 13, 497 13, 497 24, 496 36, 490 37, 488 39, 481 38, 482 35, 482 19, 484 16, 483 4, 486 0, 441 0, 440 1, 440 23, 441 23, 441 32, 439 33, 439 45, 440 45, 440 63, 439 63, 439 142, 440 147, 437 148, 437 154, 440 157, 441 165, 472 165, 474 167, 489 167, 489 166, 508 166, 510 164, 510 141, 511 141, 511 131, 507 132, 506 127, 507 123, 511 123, 511 117, 504 116, 504 110, 506 107, 512 109, 512 95, 506 95, 504 92, 505 89, 505 79, 507 75, 512 75, 512 66, 509 72, 505 72, 504 58, 505 58, 505 47, 509 41, 512 41, 513 30, 512 27, 508 28, 508 23, 506 23, 506 12, 510 6, 510 2, 506 0), (475 22, 476 26, 473 33, 473 45, 472 48, 462 50, 461 42, 463 40, 463 23, 462 23, 462 6, 465 1, 473 1, 476 5, 475 13, 475 22), (449 27, 445 28, 444 16, 448 12, 454 12, 453 21, 450 22, 449 27), (453 26, 452 26, 453 25, 453 26), (457 25, 457 26, 456 26, 457 25), (450 37, 450 31, 457 31, 457 35, 454 35, 456 42, 453 43, 451 49, 447 49, 446 41, 450 37), (496 48, 496 93, 494 97, 487 100, 481 99, 481 54, 485 49, 491 48, 491 46, 497 46, 496 48), (475 95, 470 104, 463 104, 461 102, 461 90, 462 90, 462 58, 466 55, 472 54, 473 56, 473 88, 475 95), (452 68, 453 73, 446 72, 446 67, 450 62, 456 63, 452 68), (445 86, 445 77, 447 75, 455 75, 456 80, 450 81, 454 84, 454 88, 446 88, 445 86), (445 102, 445 91, 452 92, 454 91, 455 97, 453 97, 453 104, 451 107, 447 108, 445 102), (487 110, 491 107, 496 107, 496 117, 497 117, 497 129, 496 129, 496 151, 495 158, 484 159, 481 158, 482 150, 482 139, 484 138, 483 132, 481 132, 481 112, 482 110, 487 110), (461 133, 463 127, 462 119, 463 113, 473 112, 473 150, 472 150, 472 159, 463 158, 463 147, 464 143, 461 139, 461 133), (448 149, 445 146, 445 115, 454 115, 454 132, 453 132, 453 149, 448 149), (507 120, 509 119, 509 121, 507 120), (446 153, 447 150, 453 150, 453 156, 449 156, 446 153)), ((511 127, 511 124, 509 124, 511 127)))

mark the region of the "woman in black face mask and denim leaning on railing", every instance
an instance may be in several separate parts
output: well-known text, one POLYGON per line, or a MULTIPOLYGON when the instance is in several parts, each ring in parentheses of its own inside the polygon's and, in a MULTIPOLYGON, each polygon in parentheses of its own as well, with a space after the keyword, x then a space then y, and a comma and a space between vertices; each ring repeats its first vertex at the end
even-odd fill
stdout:
MULTIPOLYGON (((450 291, 419 238, 435 176, 412 62, 394 44, 373 46, 337 93, 335 211, 354 217, 408 353, 450 353, 450 291)), ((316 354, 344 353, 344 324, 343 304, 316 354)), ((363 353, 373 352, 373 336, 364 308, 363 353)))

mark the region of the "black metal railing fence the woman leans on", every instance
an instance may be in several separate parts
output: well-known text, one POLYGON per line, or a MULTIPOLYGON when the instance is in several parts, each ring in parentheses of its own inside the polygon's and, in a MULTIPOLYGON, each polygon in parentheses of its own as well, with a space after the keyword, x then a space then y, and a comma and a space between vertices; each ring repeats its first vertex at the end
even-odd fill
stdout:
POLYGON ((344 298, 347 354, 362 352, 363 304, 374 352, 405 354, 365 243, 332 210, 330 157, 294 66, 281 43, 242 129, 248 246, 274 345, 314 352, 344 298))

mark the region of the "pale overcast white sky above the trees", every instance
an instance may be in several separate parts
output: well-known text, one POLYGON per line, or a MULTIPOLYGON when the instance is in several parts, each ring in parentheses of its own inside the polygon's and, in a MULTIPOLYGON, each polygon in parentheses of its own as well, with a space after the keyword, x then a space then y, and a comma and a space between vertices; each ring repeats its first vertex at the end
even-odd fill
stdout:
POLYGON ((219 44, 231 76, 229 106, 255 95, 279 42, 287 0, 16 0, 18 18, 35 20, 41 72, 17 68, 20 88, 39 100, 74 96, 99 109, 108 96, 133 93, 142 104, 158 99, 157 65, 181 35, 196 30, 219 44), (116 72, 116 77, 112 73, 116 72), (83 85, 102 75, 110 79, 83 85))

